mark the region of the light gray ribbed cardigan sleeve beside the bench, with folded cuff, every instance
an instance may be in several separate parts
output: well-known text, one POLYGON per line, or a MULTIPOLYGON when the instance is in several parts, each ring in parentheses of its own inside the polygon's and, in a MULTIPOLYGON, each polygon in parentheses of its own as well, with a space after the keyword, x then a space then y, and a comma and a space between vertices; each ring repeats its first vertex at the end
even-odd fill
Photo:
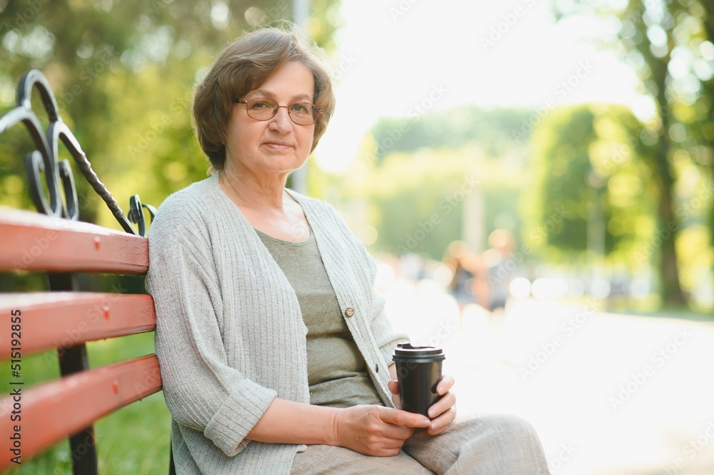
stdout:
POLYGON ((174 420, 234 456, 276 391, 226 362, 220 286, 208 231, 197 221, 185 207, 171 206, 160 210, 149 232, 146 289, 156 308, 156 356, 174 420))

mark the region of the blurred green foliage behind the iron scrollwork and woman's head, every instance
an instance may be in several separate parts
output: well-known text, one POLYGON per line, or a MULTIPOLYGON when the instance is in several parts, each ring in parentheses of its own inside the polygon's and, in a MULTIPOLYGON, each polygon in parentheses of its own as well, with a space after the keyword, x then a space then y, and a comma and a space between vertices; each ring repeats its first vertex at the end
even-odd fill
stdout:
MULTIPOLYGON (((312 0, 306 22, 306 33, 328 51, 338 4, 312 0)), ((132 194, 158 206, 206 176, 208 161, 191 131, 196 79, 241 31, 291 19, 292 8, 288 0, 0 0, 0 113, 14 106, 21 74, 41 70, 122 209, 132 194)), ((33 149, 29 136, 16 126, 1 142, 0 203, 33 209, 22 160, 33 149)), ((60 149, 59 158, 72 161, 60 149)), ((116 227, 75 170, 80 219, 116 227)))

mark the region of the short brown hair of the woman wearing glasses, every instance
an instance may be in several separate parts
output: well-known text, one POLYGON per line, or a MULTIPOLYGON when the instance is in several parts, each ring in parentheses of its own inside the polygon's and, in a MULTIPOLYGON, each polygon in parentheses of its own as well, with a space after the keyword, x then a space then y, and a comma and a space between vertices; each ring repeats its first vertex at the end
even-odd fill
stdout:
POLYGON ((321 49, 306 46, 294 27, 252 31, 221 51, 193 96, 193 128, 213 169, 221 170, 226 163, 226 129, 233 99, 256 89, 288 61, 303 64, 315 79, 313 103, 323 111, 315 123, 311 151, 315 149, 335 107, 332 82, 320 64, 321 56, 321 49))

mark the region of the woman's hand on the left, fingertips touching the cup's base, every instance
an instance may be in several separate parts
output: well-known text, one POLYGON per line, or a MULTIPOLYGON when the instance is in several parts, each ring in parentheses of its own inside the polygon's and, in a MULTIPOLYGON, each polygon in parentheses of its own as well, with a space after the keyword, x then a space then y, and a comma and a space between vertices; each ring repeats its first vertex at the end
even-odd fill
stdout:
POLYGON ((415 428, 431 421, 421 414, 384 406, 338 409, 333 419, 333 445, 372 456, 394 456, 415 428))

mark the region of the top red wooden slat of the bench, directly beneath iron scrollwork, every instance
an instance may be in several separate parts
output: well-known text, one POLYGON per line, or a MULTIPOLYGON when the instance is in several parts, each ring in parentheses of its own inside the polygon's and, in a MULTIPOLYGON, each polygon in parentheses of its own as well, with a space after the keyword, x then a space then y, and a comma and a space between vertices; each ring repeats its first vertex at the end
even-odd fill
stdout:
POLYGON ((146 274, 149 240, 123 231, 0 208, 0 271, 146 274))

